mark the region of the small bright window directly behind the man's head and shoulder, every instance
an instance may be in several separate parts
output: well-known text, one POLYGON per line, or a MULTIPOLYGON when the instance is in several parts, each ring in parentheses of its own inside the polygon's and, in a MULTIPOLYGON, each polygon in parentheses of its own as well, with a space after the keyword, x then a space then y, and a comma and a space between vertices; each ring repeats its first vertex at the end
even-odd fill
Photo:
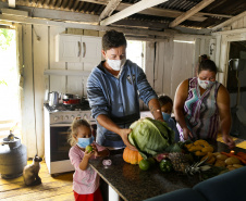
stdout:
POLYGON ((127 40, 126 58, 145 70, 144 49, 145 42, 127 40))

